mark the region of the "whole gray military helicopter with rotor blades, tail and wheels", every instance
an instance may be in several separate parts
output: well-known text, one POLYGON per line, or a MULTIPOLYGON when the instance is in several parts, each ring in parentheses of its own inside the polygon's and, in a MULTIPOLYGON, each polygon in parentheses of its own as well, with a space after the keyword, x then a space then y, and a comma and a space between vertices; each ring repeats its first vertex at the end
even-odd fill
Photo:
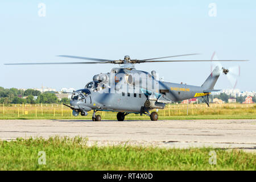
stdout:
POLYGON ((93 76, 93 80, 85 85, 84 89, 72 93, 70 105, 65 105, 73 110, 73 115, 88 115, 93 110, 92 120, 101 121, 97 111, 112 111, 117 113, 117 120, 123 121, 130 113, 148 115, 151 121, 158 120, 158 113, 150 113, 152 109, 164 109, 166 104, 189 98, 203 97, 209 106, 209 94, 216 92, 214 85, 221 72, 228 74, 229 69, 217 66, 203 85, 193 86, 160 81, 155 71, 151 73, 135 69, 135 64, 160 63, 160 62, 202 62, 202 61, 246 61, 246 60, 159 60, 170 57, 191 56, 197 53, 156 57, 151 59, 132 60, 125 56, 123 60, 96 59, 91 57, 60 55, 91 62, 68 63, 15 63, 5 65, 32 65, 32 64, 119 64, 119 68, 113 68, 109 73, 100 73, 93 76))

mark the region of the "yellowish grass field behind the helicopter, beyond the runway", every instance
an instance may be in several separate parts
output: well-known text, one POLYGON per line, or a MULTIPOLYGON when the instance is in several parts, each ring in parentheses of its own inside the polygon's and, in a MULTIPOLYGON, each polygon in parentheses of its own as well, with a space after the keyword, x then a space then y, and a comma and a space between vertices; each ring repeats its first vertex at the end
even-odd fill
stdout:
MULTIPOLYGON (((154 110, 155 111, 155 110, 154 110)), ((113 112, 98 111, 102 119, 116 120, 113 112)), ((171 104, 158 111, 159 119, 256 119, 256 104, 171 104), (188 109, 188 113, 187 113, 188 109)), ((72 110, 57 104, 0 105, 0 119, 92 119, 92 111, 86 117, 74 117, 72 110)), ((129 114, 127 120, 149 119, 146 115, 129 114)))

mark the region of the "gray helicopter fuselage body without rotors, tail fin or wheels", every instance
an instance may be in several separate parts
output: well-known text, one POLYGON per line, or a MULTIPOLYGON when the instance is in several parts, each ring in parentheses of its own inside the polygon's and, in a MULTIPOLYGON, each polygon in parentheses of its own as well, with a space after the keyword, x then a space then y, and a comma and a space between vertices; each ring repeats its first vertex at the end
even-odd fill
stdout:
POLYGON ((142 114, 164 109, 170 102, 210 94, 202 86, 159 81, 156 77, 154 71, 113 68, 110 73, 95 75, 84 89, 74 92, 71 107, 76 115, 87 115, 90 110, 142 114))

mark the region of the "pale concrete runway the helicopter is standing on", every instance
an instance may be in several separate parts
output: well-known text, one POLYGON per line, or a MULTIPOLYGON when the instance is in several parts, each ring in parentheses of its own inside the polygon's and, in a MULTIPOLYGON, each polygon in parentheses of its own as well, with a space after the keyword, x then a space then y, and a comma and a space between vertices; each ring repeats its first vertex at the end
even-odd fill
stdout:
POLYGON ((81 136, 89 144, 154 145, 159 147, 241 148, 256 151, 256 119, 168 120, 168 121, 83 121, 0 120, 0 139, 17 137, 81 136))

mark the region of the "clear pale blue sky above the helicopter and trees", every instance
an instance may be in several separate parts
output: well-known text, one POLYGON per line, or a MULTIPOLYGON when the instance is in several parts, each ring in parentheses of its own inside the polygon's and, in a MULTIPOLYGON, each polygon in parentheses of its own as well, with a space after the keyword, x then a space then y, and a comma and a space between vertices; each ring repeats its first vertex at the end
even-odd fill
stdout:
MULTIPOLYGON (((77 61, 76 55, 104 59, 146 59, 201 53, 182 59, 247 59, 240 65, 237 88, 256 90, 255 1, 1 1, 0 86, 83 88, 97 73, 117 65, 26 65, 4 63, 77 61), (39 17, 38 5, 46 5, 39 17), (216 3, 217 16, 208 7, 216 3)), ((145 63, 165 81, 201 85, 210 63, 145 63)), ((216 89, 232 88, 222 75, 216 89)))

